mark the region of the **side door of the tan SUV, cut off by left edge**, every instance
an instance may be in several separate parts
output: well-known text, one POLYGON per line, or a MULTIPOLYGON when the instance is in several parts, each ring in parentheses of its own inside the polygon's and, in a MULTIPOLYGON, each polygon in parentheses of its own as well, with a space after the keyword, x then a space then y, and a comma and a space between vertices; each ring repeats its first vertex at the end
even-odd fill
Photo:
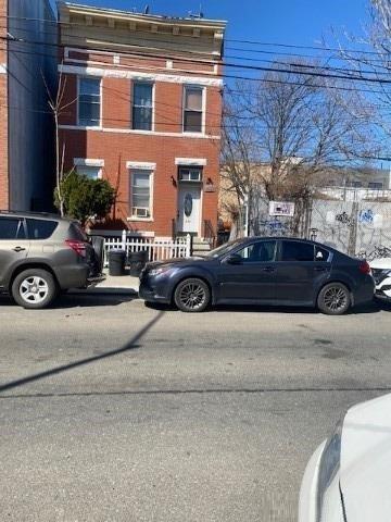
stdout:
POLYGON ((0 286, 4 284, 12 265, 26 258, 28 250, 24 220, 0 215, 0 286))

